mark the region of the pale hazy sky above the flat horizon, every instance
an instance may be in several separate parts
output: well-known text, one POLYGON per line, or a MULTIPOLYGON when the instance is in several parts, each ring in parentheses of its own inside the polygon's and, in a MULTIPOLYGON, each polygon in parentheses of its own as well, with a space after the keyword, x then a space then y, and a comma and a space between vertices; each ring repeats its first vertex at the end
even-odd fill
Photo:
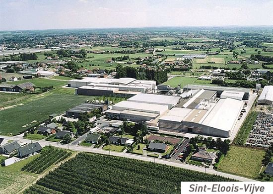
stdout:
POLYGON ((273 0, 0 0, 0 30, 273 25, 273 0))

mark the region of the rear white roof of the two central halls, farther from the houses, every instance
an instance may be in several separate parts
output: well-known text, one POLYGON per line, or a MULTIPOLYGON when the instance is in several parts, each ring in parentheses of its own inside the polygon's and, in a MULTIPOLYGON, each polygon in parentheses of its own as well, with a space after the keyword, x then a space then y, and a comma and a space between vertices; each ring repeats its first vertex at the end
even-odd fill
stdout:
POLYGON ((138 94, 134 97, 130 97, 128 101, 145 102, 151 104, 166 104, 174 106, 179 102, 180 97, 173 97, 167 95, 153 95, 153 94, 138 94))

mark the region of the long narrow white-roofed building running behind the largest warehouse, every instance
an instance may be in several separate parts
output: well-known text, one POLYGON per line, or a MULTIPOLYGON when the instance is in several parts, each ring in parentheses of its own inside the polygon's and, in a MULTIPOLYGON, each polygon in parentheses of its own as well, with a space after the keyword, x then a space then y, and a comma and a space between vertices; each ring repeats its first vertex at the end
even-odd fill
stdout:
POLYGON ((220 97, 223 91, 229 91, 229 92, 243 92, 243 100, 249 99, 250 89, 246 88, 231 88, 231 87, 218 87, 218 86, 204 86, 204 85, 186 85, 183 88, 183 91, 189 91, 189 90, 198 90, 198 89, 204 89, 208 91, 216 91, 217 97, 220 97))

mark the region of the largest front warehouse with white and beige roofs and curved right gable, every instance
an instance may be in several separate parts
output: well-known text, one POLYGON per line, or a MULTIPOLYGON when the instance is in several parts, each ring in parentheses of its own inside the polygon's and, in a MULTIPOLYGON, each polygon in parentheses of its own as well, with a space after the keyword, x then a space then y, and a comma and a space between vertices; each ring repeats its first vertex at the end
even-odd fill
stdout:
POLYGON ((233 98, 219 99, 209 109, 175 109, 159 118, 159 130, 188 132, 229 137, 243 106, 243 101, 233 98))

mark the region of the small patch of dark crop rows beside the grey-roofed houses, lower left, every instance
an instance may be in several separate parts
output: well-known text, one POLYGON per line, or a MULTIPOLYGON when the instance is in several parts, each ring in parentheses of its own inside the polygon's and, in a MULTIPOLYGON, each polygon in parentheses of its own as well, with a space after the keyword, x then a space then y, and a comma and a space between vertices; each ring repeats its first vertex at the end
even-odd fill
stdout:
POLYGON ((27 163, 25 166, 22 167, 21 170, 40 174, 51 165, 63 161, 70 155, 71 152, 68 152, 66 150, 46 148, 42 151, 41 156, 27 163))

